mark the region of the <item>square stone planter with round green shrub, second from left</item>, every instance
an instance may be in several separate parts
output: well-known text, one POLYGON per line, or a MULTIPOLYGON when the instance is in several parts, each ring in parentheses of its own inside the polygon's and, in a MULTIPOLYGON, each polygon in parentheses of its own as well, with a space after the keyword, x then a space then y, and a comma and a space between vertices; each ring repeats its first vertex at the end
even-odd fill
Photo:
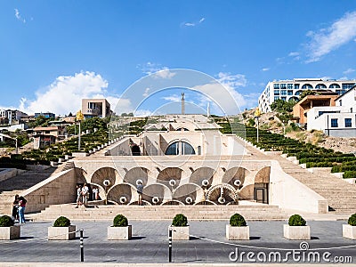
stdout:
POLYGON ((76 238, 76 225, 70 224, 67 217, 61 216, 48 227, 48 240, 69 240, 76 238))

